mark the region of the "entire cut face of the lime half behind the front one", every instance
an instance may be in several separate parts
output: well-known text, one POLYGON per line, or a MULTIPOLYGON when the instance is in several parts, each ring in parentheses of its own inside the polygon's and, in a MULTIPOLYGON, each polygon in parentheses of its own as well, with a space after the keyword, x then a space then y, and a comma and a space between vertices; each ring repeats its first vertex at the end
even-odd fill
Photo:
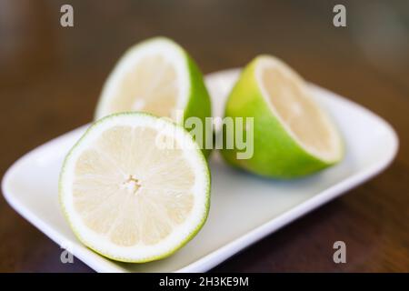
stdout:
POLYGON ((95 118, 143 111, 175 118, 190 91, 188 59, 171 40, 155 38, 130 48, 108 77, 95 118))

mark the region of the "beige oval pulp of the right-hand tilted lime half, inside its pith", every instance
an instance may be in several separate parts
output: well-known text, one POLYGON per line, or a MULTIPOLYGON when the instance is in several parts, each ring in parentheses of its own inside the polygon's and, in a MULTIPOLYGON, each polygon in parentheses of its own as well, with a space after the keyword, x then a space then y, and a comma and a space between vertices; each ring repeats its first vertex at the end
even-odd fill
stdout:
POLYGON ((278 65, 266 65, 261 79, 268 100, 295 137, 324 156, 334 152, 332 128, 314 104, 304 81, 278 65))

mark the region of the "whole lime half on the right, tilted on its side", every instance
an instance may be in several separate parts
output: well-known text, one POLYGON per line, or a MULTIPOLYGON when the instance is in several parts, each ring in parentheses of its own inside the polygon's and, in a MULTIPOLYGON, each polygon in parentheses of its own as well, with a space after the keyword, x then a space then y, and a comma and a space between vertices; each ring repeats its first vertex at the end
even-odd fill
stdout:
POLYGON ((343 156, 340 135, 304 80, 273 56, 260 55, 246 66, 225 115, 254 117, 254 156, 239 160, 235 148, 222 154, 230 164, 255 174, 304 176, 343 156))

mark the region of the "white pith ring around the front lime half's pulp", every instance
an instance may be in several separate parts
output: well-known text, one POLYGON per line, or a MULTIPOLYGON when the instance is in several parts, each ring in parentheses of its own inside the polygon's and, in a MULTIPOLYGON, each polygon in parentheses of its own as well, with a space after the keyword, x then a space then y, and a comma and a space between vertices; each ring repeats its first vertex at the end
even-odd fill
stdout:
MULTIPOLYGON (((164 164, 165 163, 166 160, 164 158, 164 164)), ((188 240, 203 223, 207 212, 209 190, 209 177, 207 171, 207 166, 200 153, 200 149, 195 144, 192 137, 182 128, 173 125, 169 121, 155 118, 151 115, 114 115, 105 118, 91 127, 66 158, 60 179, 61 202, 65 208, 65 214, 67 215, 71 226, 73 226, 75 234, 79 236, 86 246, 95 249, 97 252, 105 256, 118 260, 151 260, 153 258, 165 256, 174 251, 178 246, 181 246, 186 240, 188 240), (194 172, 195 183, 192 186, 194 203, 192 210, 185 218, 185 221, 181 224, 174 225, 172 232, 154 245, 138 243, 135 246, 118 246, 113 243, 108 236, 102 236, 86 226, 83 217, 80 216, 75 209, 73 184, 75 181, 76 162, 85 150, 95 145, 95 142, 106 130, 115 126, 141 126, 160 131, 160 133, 164 135, 174 136, 176 141, 185 146, 183 149, 183 159, 187 161, 188 165, 194 172)), ((125 187, 129 187, 126 189, 131 191, 135 190, 135 184, 127 185, 125 187)), ((136 186, 136 188, 137 187, 138 186, 136 186)))

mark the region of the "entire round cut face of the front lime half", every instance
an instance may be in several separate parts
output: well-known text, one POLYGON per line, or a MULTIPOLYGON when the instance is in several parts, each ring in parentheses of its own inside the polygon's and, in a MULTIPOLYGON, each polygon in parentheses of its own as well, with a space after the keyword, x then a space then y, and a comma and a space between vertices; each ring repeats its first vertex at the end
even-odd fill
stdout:
POLYGON ((60 201, 75 235, 109 258, 171 255, 203 226, 210 177, 185 130, 146 114, 110 115, 66 156, 60 201), (169 136, 174 148, 160 146, 169 136))

